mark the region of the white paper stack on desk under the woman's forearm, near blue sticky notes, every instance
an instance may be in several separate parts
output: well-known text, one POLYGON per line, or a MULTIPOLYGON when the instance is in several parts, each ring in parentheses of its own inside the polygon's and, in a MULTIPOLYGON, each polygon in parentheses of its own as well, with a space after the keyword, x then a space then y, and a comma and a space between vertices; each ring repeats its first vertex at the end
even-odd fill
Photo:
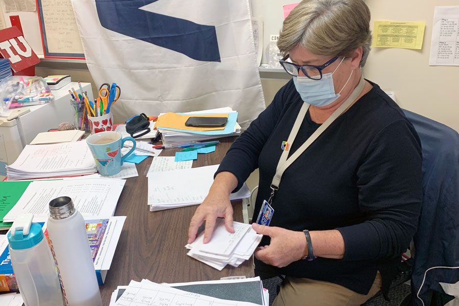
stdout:
MULTIPOLYGON (((148 173, 148 205, 150 211, 202 203, 209 193, 218 166, 148 173)), ((244 183, 238 192, 230 195, 230 199, 236 200, 249 196, 250 190, 244 183)))

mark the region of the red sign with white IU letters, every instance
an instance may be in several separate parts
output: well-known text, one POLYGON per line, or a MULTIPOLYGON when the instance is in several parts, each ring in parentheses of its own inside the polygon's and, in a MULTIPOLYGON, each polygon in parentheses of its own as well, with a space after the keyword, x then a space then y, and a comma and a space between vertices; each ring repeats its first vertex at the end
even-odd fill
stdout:
POLYGON ((16 27, 0 31, 0 54, 10 59, 14 72, 38 64, 40 60, 16 27))

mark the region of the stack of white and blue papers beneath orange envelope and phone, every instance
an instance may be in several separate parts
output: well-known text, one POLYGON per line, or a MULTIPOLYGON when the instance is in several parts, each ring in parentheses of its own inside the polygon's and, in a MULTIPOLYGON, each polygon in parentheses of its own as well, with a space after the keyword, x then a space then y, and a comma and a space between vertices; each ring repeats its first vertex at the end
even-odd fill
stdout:
MULTIPOLYGON (((213 130, 213 131, 199 131, 199 128, 196 130, 184 130, 183 127, 177 126, 177 128, 172 127, 163 127, 160 124, 160 118, 156 127, 159 132, 161 132, 161 139, 163 144, 168 147, 172 145, 179 145, 184 143, 190 143, 193 141, 203 141, 215 138, 222 138, 234 135, 241 134, 241 126, 236 122, 238 118, 238 113, 233 111, 231 108, 219 108, 205 111, 189 112, 183 113, 183 115, 205 115, 205 114, 228 114, 228 120, 223 130, 213 130)), ((202 129, 202 128, 201 128, 202 129)))

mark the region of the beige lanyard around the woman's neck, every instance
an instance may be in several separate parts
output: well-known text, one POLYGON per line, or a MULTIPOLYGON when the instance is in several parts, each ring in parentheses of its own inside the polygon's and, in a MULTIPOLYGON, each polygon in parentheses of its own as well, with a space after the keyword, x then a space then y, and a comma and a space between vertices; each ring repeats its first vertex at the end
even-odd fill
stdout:
MULTIPOLYGON (((289 150, 283 150, 281 158, 277 163, 276 174, 274 175, 271 183, 271 195, 269 196, 268 203, 271 204, 272 197, 274 196, 274 192, 279 189, 279 184, 281 184, 281 177, 284 174, 284 171, 320 136, 320 134, 325 131, 325 129, 333 122, 336 118, 338 118, 344 111, 352 104, 352 102, 360 95, 363 88, 365 86, 365 80, 363 75, 360 77, 360 82, 357 87, 354 88, 350 96, 344 101, 344 103, 337 108, 327 120, 325 120, 322 125, 318 127, 318 129, 290 156, 289 158, 289 150)), ((289 147, 293 144, 293 141, 298 134, 299 128, 301 123, 304 120, 304 116, 308 112, 309 104, 303 103, 301 109, 296 117, 295 123, 293 124, 292 131, 290 132, 288 143, 289 147)))

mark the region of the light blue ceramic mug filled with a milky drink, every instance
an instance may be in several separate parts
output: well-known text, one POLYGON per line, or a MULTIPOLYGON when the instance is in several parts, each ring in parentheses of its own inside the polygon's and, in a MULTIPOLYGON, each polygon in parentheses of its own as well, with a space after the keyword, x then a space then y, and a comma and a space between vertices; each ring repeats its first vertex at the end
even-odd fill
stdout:
POLYGON ((123 161, 136 149, 136 141, 132 137, 121 137, 117 132, 100 132, 86 138, 92 152, 99 174, 109 176, 121 171, 123 161), (125 141, 132 141, 132 149, 121 156, 121 148, 125 141))

